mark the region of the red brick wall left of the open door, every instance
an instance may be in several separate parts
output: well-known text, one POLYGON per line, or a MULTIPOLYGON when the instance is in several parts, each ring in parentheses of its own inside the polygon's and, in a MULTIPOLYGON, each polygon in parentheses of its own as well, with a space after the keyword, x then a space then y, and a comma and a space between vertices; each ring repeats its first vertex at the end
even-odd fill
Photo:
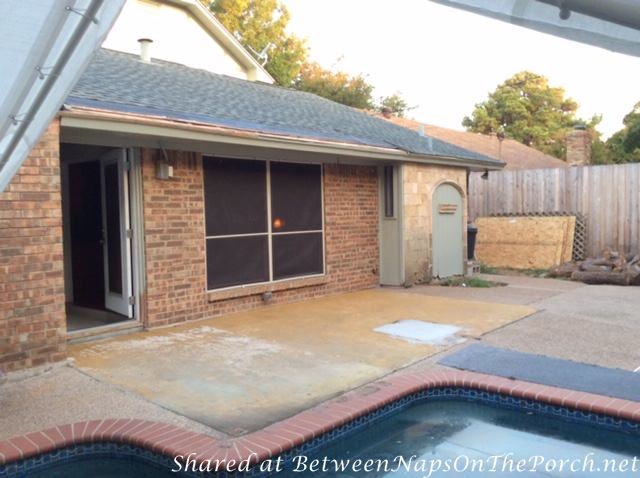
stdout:
POLYGON ((65 358, 59 122, 0 193, 0 370, 65 358))

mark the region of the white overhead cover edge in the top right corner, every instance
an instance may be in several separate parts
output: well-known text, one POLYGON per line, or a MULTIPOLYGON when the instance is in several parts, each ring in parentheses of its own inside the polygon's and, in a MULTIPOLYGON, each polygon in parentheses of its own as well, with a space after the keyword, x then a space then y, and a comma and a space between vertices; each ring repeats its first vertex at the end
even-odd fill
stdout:
POLYGON ((431 0, 569 40, 640 56, 640 0, 431 0))

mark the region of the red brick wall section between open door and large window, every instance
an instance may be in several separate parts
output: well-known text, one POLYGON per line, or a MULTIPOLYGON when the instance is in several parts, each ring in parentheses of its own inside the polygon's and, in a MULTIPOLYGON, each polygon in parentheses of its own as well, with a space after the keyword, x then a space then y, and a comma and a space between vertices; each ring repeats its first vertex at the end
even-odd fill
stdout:
POLYGON ((202 159, 169 151, 175 177, 155 177, 160 153, 142 152, 147 325, 203 317, 205 283, 202 159))

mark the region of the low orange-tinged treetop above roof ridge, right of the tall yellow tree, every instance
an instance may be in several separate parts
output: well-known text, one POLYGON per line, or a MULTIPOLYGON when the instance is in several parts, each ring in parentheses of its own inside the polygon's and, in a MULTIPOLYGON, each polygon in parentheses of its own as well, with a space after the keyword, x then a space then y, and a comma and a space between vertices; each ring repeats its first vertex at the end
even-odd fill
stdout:
POLYGON ((362 75, 332 72, 318 63, 303 65, 293 86, 354 108, 374 108, 371 96, 373 86, 362 75))

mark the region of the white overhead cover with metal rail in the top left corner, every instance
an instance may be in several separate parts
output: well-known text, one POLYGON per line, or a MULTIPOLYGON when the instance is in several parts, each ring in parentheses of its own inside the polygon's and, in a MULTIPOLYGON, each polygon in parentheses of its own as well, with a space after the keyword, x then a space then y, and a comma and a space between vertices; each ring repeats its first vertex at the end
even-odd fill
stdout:
POLYGON ((0 191, 55 117, 124 2, 0 2, 0 191))

